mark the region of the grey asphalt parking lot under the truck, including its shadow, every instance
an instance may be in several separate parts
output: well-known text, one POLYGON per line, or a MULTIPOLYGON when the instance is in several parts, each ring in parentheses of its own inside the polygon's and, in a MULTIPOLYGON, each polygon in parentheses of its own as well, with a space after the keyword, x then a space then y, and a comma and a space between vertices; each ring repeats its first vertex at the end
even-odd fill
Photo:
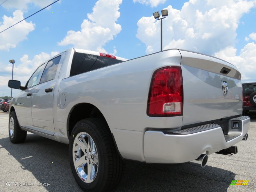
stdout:
MULTIPOLYGON (((205 168, 126 162, 116 191, 256 191, 256 113, 249 116, 249 137, 237 144, 238 154, 212 154, 205 168), (249 183, 230 186, 232 180, 249 183)), ((68 145, 35 134, 28 134, 23 144, 12 144, 8 119, 1 111, 0 191, 81 191, 70 170, 68 145)))

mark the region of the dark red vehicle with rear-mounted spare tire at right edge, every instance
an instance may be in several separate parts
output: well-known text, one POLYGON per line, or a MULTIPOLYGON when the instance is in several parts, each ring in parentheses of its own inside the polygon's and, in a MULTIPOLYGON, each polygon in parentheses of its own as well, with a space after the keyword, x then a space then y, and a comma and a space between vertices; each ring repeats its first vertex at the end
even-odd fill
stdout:
POLYGON ((243 83, 243 113, 256 111, 256 83, 243 83))

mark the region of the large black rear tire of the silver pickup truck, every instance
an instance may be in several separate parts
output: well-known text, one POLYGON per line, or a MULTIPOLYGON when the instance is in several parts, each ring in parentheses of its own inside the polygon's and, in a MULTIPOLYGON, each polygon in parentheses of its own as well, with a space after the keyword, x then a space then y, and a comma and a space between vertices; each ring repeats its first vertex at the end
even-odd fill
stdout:
POLYGON ((116 150, 108 125, 102 119, 84 119, 74 126, 70 137, 69 159, 73 176, 84 191, 109 191, 114 189, 121 179, 124 167, 123 160, 116 150), (95 147, 90 147, 91 145, 86 147, 89 138, 92 139, 90 140, 91 145, 95 147), (81 141, 85 145, 81 144, 81 141), (84 148, 82 149, 82 147, 84 148), (94 148, 94 150, 90 148, 94 148), (93 153, 97 156, 94 156, 93 153), (93 163, 90 163, 89 158, 93 163), (81 161, 75 166, 74 162, 78 162, 79 159, 81 161), (93 179, 88 179, 87 176, 89 166, 94 166, 94 169, 91 168, 93 172, 90 172, 95 176, 93 179), (80 178, 81 175, 83 177, 86 175, 84 181, 80 178))

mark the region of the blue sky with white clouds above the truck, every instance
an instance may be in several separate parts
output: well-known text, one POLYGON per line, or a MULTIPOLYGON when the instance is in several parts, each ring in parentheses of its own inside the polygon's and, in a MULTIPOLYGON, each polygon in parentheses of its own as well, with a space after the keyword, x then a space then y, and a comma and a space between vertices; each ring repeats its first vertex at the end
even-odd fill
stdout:
MULTIPOLYGON (((6 1, 0 32, 53 2, 6 1)), ((256 0, 61 0, 0 34, 0 98, 10 96, 10 59, 24 85, 42 62, 71 47, 126 59, 160 51, 160 21, 152 14, 163 9, 164 49, 219 57, 238 67, 243 83, 256 82, 256 0)))

